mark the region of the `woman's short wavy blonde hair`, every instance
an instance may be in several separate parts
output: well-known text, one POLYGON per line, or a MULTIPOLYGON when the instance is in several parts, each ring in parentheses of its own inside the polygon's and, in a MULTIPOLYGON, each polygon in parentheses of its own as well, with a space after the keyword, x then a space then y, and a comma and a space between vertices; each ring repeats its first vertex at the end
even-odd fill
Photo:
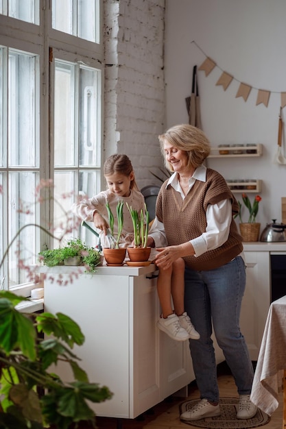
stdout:
POLYGON ((200 128, 193 125, 182 124, 169 128, 164 134, 158 136, 160 149, 163 154, 165 165, 169 171, 174 171, 167 162, 164 151, 164 143, 167 141, 177 149, 187 152, 189 167, 197 168, 210 154, 211 146, 206 134, 200 128))

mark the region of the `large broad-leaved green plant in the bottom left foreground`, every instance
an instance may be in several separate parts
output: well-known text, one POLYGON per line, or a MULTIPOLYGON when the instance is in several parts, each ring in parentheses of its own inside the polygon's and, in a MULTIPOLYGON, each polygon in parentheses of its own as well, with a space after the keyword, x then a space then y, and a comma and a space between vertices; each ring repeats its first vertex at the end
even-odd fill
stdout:
POLYGON ((60 312, 25 315, 15 308, 23 300, 27 298, 0 291, 0 428, 68 429, 82 420, 94 424, 88 402, 103 402, 112 393, 89 382, 71 351, 84 343, 80 327, 60 312), (73 382, 49 371, 60 361, 71 367, 73 382))

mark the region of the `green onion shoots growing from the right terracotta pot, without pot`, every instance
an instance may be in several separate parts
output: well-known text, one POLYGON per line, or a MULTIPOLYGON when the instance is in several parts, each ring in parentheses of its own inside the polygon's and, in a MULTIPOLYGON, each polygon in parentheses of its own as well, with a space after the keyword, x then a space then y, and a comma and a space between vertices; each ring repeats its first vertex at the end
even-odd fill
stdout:
POLYGON ((134 247, 147 247, 149 212, 147 210, 146 204, 144 210, 141 209, 139 212, 134 210, 132 206, 128 206, 128 210, 133 223, 134 247))

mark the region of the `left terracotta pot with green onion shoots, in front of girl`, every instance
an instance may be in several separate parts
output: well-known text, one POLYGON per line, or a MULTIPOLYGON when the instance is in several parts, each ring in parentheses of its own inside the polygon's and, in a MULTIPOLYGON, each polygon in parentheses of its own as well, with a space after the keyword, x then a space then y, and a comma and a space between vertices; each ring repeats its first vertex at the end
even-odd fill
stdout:
POLYGON ((115 217, 110 209, 109 204, 106 204, 108 212, 108 224, 110 226, 110 231, 108 231, 107 237, 110 243, 110 247, 104 247, 104 258, 106 259, 107 265, 122 265, 123 260, 126 257, 126 249, 124 247, 119 247, 119 241, 121 237, 121 232, 123 229, 123 205, 124 201, 118 201, 116 208, 117 215, 117 234, 114 232, 115 217))

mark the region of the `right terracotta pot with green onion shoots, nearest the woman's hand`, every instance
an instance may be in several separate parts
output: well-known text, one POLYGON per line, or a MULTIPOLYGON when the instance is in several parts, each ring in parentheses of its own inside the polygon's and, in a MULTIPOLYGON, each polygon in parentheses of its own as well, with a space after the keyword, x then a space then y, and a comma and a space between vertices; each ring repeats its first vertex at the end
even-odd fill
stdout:
POLYGON ((127 248, 128 256, 131 262, 143 262, 148 260, 151 253, 151 247, 147 247, 149 212, 146 204, 144 210, 141 209, 139 212, 131 206, 128 206, 128 210, 132 217, 134 232, 134 247, 127 248))

